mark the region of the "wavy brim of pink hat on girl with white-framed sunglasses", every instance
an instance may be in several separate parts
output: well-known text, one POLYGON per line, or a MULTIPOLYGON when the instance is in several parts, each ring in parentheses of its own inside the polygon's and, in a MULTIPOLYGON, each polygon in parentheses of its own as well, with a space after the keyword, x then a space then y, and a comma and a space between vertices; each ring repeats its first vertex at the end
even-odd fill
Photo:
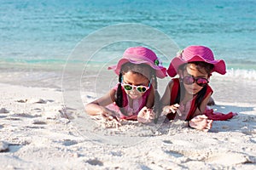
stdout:
MULTIPOLYGON (((134 55, 133 55, 134 56, 134 55)), ((161 65, 154 65, 151 61, 149 61, 147 58, 144 59, 129 59, 129 56, 123 57, 123 59, 120 59, 117 65, 112 65, 108 67, 108 70, 113 70, 117 75, 119 75, 119 72, 121 70, 121 65, 124 65, 125 63, 133 63, 133 64, 146 64, 152 67, 155 70, 155 76, 159 78, 166 77, 166 68, 161 65)))

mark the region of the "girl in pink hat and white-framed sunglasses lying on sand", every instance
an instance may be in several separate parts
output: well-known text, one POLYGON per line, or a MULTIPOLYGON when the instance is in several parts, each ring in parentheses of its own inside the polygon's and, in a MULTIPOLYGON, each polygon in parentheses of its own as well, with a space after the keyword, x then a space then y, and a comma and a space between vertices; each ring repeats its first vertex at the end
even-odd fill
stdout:
POLYGON ((86 105, 85 111, 107 120, 151 122, 160 109, 157 78, 166 77, 156 54, 148 48, 127 48, 117 65, 108 67, 119 76, 118 84, 108 94, 86 105), (154 111, 153 111, 154 107, 154 111))

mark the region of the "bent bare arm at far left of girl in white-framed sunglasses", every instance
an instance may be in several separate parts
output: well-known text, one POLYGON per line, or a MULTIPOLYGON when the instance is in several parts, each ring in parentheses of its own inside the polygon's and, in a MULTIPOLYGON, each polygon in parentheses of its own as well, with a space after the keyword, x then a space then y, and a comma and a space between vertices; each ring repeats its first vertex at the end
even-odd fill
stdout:
POLYGON ((106 108, 106 105, 110 105, 114 101, 114 95, 115 95, 115 90, 111 89, 108 94, 105 94, 99 99, 96 99, 89 104, 85 105, 85 111, 91 115, 91 116, 96 116, 96 115, 102 115, 102 116, 108 116, 108 115, 114 115, 113 111, 108 110, 106 108))

